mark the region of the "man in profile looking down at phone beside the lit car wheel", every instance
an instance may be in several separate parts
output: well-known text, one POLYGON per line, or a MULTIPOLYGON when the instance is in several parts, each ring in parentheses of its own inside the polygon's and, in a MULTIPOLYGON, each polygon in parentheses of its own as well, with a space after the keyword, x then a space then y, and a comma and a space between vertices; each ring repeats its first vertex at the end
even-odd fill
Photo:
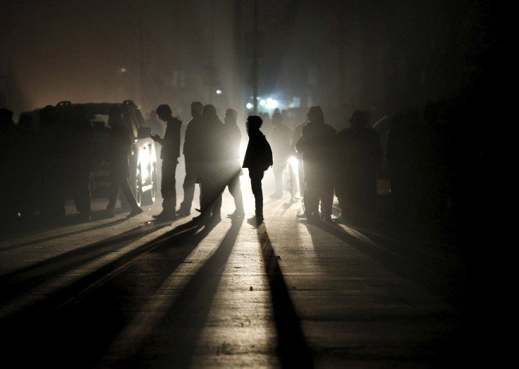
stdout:
POLYGON ((159 221, 169 221, 176 219, 176 182, 175 172, 178 164, 178 157, 181 156, 181 125, 182 121, 171 116, 171 108, 167 104, 157 107, 157 116, 161 121, 166 122, 166 132, 164 138, 159 135, 152 135, 153 140, 161 144, 160 158, 162 159, 162 212, 153 217, 159 221))

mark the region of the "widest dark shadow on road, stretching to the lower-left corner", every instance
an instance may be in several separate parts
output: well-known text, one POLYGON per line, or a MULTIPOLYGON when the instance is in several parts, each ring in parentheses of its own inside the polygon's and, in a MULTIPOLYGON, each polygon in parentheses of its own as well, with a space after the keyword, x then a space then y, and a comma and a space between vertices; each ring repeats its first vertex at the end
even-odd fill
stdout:
POLYGON ((142 291, 157 289, 213 227, 205 226, 199 231, 197 224, 178 226, 0 320, 0 329, 8 338, 4 346, 6 357, 15 358, 20 365, 47 363, 54 368, 92 368, 130 322, 133 312, 144 305, 142 291), (176 258, 166 260, 167 269, 159 270, 152 280, 140 280, 145 289, 135 286, 135 272, 143 265, 148 267, 145 256, 152 251, 167 256, 171 248, 177 250, 176 258))

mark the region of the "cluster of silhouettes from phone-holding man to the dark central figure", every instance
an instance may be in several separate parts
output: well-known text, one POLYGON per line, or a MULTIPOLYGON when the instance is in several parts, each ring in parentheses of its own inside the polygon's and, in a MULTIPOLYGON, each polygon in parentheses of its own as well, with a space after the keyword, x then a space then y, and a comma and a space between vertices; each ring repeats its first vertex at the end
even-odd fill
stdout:
POLYGON ((162 211, 153 217, 158 221, 171 221, 186 217, 191 212, 195 186, 200 186, 200 214, 191 222, 215 224, 221 221, 222 193, 228 188, 233 196, 236 210, 228 217, 245 217, 240 176, 247 168, 255 195, 255 215, 248 219, 252 224, 261 224, 263 218, 263 193, 261 181, 264 171, 272 164, 272 151, 265 136, 259 131, 262 119, 248 116, 245 123, 249 136, 243 162, 240 158, 241 131, 238 127, 238 111, 226 109, 224 121, 219 119, 212 104, 193 102, 191 119, 186 123, 181 147, 182 121, 172 116, 167 104, 157 107, 157 116, 166 123, 164 137, 152 135, 161 145, 161 196, 162 211), (181 151, 185 159, 183 201, 177 207, 176 167, 181 151))

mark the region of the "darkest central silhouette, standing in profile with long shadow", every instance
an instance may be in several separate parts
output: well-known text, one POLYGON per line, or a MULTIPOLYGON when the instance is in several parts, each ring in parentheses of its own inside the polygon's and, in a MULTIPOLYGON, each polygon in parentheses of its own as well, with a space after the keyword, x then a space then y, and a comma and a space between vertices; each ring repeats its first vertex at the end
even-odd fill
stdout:
POLYGON ((259 116, 249 116, 245 126, 249 136, 247 150, 243 159, 243 168, 249 169, 250 186, 255 199, 255 216, 248 219, 248 222, 258 226, 263 218, 263 190, 262 179, 264 172, 273 164, 272 150, 259 128, 263 120, 259 116))

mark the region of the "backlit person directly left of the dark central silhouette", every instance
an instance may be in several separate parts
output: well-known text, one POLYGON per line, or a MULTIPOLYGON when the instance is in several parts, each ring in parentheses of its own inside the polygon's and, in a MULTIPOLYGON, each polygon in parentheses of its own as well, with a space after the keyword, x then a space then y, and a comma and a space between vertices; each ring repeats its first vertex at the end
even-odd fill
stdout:
POLYGON ((229 214, 231 218, 243 218, 245 216, 240 184, 240 176, 243 176, 240 163, 241 131, 236 124, 237 120, 238 111, 227 109, 224 116, 224 150, 226 150, 224 176, 229 192, 234 198, 235 211, 229 214))

